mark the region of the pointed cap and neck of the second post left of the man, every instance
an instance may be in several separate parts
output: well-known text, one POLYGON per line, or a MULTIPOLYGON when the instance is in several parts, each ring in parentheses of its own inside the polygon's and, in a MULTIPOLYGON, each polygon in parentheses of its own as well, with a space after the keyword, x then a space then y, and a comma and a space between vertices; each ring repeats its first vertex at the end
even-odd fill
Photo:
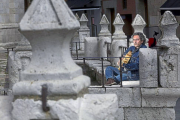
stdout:
POLYGON ((105 14, 102 16, 99 24, 101 25, 101 31, 99 33, 99 37, 100 36, 102 36, 102 37, 111 36, 111 33, 108 30, 109 21, 105 14))

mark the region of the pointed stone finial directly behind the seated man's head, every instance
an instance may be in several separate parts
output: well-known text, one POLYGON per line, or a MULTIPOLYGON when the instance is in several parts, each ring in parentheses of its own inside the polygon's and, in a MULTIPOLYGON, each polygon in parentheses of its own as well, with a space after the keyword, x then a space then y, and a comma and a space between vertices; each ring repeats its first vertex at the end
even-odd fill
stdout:
MULTIPOLYGON (((146 26, 146 22, 144 21, 144 19, 141 17, 141 15, 137 14, 136 17, 134 18, 133 22, 132 22, 132 27, 134 28, 134 33, 135 32, 141 32, 143 33, 143 35, 146 38, 146 35, 143 32, 144 27, 146 26)), ((146 43, 145 45, 148 47, 148 38, 146 38, 146 43)), ((129 46, 133 46, 133 38, 131 37, 131 39, 129 39, 129 46)))

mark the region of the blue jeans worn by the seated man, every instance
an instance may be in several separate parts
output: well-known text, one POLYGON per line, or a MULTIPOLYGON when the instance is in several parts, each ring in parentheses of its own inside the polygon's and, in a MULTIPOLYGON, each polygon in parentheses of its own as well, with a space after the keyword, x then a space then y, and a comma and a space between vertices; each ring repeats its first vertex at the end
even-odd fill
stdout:
MULTIPOLYGON (((116 83, 119 83, 121 81, 120 71, 115 67, 108 66, 106 68, 105 75, 106 75, 106 80, 108 78, 112 78, 116 81, 116 83)), ((128 76, 129 75, 127 73, 122 73, 122 81, 127 81, 128 76)))

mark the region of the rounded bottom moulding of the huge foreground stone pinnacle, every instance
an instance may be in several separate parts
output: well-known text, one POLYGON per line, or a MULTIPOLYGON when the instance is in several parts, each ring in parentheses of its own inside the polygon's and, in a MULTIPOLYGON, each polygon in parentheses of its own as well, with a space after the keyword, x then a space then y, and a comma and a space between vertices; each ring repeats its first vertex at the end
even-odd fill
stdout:
POLYGON ((72 80, 20 81, 14 84, 13 95, 41 95, 43 84, 48 86, 48 95, 77 95, 90 86, 90 78, 81 75, 72 80))

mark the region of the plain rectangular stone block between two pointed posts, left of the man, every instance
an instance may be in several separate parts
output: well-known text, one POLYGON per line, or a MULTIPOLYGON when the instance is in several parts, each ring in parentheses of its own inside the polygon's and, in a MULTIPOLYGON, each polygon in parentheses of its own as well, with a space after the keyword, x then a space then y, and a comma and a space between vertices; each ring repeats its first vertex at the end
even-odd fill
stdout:
POLYGON ((98 57, 97 37, 85 37, 85 57, 98 57))

